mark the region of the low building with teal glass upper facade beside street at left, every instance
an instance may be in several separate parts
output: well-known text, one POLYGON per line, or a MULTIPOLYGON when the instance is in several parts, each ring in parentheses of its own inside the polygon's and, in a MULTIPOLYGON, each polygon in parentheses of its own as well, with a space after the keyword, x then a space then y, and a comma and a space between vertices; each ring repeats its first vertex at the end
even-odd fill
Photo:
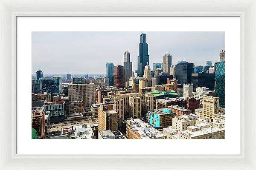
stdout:
POLYGON ((51 123, 63 122, 66 117, 66 103, 65 102, 45 103, 44 110, 50 112, 51 123))

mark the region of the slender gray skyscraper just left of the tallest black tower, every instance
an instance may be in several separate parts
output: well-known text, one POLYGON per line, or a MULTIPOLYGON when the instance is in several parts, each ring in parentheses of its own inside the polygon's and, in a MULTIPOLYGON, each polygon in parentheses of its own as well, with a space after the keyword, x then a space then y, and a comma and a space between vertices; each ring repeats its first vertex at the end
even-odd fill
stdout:
POLYGON ((132 77, 132 62, 130 62, 130 52, 125 51, 124 53, 124 82, 128 82, 132 77))

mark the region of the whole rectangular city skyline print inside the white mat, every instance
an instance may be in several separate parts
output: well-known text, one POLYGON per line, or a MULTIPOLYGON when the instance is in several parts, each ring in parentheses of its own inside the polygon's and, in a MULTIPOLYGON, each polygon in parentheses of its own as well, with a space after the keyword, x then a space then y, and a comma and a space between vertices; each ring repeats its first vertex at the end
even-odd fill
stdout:
POLYGON ((31 45, 32 139, 225 139, 225 31, 32 31, 31 45))

